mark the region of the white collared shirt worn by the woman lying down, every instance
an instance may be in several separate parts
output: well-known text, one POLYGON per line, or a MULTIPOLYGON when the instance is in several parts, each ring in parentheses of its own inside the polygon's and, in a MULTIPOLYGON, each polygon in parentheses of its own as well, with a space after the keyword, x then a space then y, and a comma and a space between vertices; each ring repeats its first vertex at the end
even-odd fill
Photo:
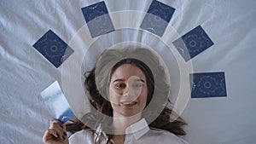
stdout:
MULTIPOLYGON (((97 131, 97 130, 96 130, 97 131)), ((149 129, 146 120, 143 118, 135 124, 132 124, 125 130, 125 144, 188 144, 182 138, 173 135, 166 130, 149 129)), ((106 144, 108 136, 103 135, 100 144, 106 144)), ((69 144, 94 144, 96 133, 92 130, 81 130, 69 137, 69 144)))

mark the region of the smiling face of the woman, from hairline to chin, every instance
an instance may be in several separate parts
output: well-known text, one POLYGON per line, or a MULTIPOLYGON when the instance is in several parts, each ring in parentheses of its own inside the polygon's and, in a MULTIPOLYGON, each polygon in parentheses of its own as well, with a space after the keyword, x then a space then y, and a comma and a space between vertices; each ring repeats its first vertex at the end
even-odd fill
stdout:
POLYGON ((113 117, 129 117, 143 112, 147 96, 147 79, 140 68, 124 64, 113 72, 109 84, 113 117))

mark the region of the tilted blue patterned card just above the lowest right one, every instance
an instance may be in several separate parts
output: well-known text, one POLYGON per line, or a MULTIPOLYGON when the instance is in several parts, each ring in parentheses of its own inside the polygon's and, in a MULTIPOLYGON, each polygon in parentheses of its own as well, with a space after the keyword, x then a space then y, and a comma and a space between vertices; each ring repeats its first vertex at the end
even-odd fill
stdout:
POLYGON ((197 26, 190 32, 178 38, 173 44, 180 55, 183 56, 183 59, 188 61, 211 47, 214 43, 211 38, 207 36, 207 33, 202 27, 197 26))

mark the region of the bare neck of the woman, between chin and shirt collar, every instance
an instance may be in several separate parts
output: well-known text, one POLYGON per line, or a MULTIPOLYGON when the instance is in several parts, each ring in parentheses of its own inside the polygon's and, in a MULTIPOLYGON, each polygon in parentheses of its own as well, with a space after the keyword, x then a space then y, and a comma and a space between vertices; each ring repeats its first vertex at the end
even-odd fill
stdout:
POLYGON ((137 123, 142 118, 142 113, 131 117, 118 116, 113 113, 113 131, 114 135, 125 135, 125 130, 131 124, 137 123))

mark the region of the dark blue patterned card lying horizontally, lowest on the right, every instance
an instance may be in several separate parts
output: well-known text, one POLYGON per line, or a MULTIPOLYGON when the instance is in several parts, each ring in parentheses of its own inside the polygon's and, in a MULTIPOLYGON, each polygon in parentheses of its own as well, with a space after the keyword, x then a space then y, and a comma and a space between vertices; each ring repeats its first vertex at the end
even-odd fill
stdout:
POLYGON ((224 72, 190 73, 191 98, 227 96, 224 72))

